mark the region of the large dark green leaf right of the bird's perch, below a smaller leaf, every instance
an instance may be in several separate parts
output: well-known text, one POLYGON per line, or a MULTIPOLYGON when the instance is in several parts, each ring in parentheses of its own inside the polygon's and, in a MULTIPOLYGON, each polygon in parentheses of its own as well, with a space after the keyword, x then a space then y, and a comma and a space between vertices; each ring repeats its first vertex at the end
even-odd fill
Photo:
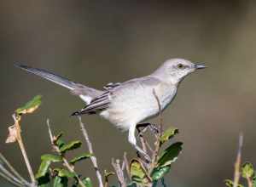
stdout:
POLYGON ((164 150, 163 154, 158 160, 158 166, 165 167, 171 165, 172 162, 176 161, 180 151, 183 150, 182 145, 182 142, 176 142, 166 148, 166 150, 164 150))

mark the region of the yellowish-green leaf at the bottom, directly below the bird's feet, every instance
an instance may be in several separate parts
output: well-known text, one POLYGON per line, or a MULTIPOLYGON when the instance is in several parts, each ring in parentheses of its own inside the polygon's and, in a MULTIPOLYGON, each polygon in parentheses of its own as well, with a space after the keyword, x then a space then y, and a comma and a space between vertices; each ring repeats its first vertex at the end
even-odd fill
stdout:
POLYGON ((143 164, 133 159, 130 164, 131 180, 138 184, 148 184, 150 178, 148 178, 147 172, 143 167, 143 164))

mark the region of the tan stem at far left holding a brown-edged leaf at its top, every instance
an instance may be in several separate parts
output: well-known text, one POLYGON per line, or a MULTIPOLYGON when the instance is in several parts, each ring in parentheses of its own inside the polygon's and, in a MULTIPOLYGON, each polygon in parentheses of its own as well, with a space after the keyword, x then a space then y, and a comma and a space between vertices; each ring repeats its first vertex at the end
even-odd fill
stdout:
POLYGON ((32 186, 35 186, 36 185, 36 179, 35 179, 34 173, 32 171, 32 167, 31 167, 30 161, 28 159, 28 156, 26 155, 26 150, 25 150, 25 146, 23 144, 23 140, 21 138, 20 123, 17 120, 17 116, 15 114, 13 114, 13 118, 15 120, 15 127, 16 127, 16 130, 17 130, 17 141, 20 145, 20 150, 21 150, 22 156, 24 158, 24 161, 26 163, 26 168, 27 168, 27 171, 28 171, 29 176, 30 176, 31 181, 32 181, 32 186))

